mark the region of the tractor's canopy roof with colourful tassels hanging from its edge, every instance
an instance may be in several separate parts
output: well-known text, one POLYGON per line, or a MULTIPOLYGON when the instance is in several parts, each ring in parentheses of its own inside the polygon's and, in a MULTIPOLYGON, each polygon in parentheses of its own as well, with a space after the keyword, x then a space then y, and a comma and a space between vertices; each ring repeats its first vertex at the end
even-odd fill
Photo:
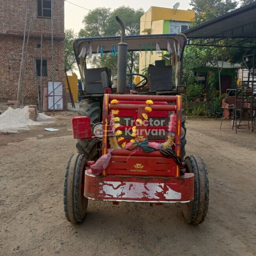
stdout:
MULTIPOLYGON (((100 52, 103 49, 104 53, 111 52, 113 46, 120 43, 121 36, 110 36, 110 37, 85 37, 78 38, 73 42, 73 50, 76 57, 77 63, 78 56, 83 48, 86 46, 87 50, 91 46, 91 52, 93 54, 100 52)), ((168 41, 171 46, 172 52, 175 54, 176 49, 180 46, 182 53, 186 45, 187 37, 182 33, 173 34, 158 34, 158 35, 126 35, 125 43, 128 45, 128 51, 145 51, 145 45, 147 45, 148 51, 150 51, 150 45, 152 44, 153 50, 156 50, 156 43, 158 43, 161 50, 167 51, 168 41), (174 46, 175 44, 175 46, 174 46)), ((87 54, 86 54, 87 55, 87 54)), ((182 57, 182 54, 180 55, 182 57)))

